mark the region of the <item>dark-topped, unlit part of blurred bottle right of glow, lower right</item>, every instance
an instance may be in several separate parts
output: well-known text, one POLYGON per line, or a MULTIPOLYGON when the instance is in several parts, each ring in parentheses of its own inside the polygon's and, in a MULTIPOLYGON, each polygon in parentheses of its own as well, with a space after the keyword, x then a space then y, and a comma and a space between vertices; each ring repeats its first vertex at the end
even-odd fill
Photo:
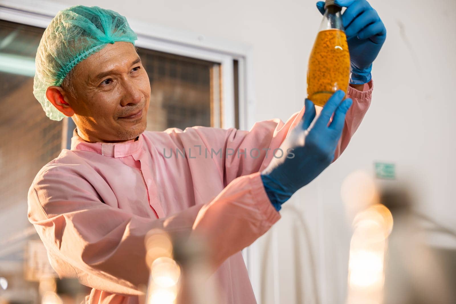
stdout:
POLYGON ((410 193, 401 186, 386 189, 381 195, 394 217, 385 268, 384 303, 454 304, 456 252, 440 256, 439 249, 427 244, 423 216, 414 211, 410 193))

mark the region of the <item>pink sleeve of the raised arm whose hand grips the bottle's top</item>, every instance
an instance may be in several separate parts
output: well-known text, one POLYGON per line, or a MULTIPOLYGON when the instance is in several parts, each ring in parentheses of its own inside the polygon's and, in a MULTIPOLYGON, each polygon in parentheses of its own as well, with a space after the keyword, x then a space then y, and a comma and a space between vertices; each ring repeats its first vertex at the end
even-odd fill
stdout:
MULTIPOLYGON (((349 88, 347 97, 353 99, 347 112, 342 137, 337 145, 336 160, 347 147, 348 142, 358 129, 372 99, 373 82, 366 83, 363 91, 349 88)), ((213 157, 227 185, 238 176, 259 172, 272 160, 273 152, 280 147, 287 134, 302 119, 304 107, 283 123, 280 119, 257 122, 250 131, 238 129, 214 129, 197 127, 186 132, 197 132, 206 143, 206 149, 222 149, 223 157, 213 157)), ((285 153, 286 151, 284 151, 285 153)), ((280 151, 277 151, 280 156, 280 151)))

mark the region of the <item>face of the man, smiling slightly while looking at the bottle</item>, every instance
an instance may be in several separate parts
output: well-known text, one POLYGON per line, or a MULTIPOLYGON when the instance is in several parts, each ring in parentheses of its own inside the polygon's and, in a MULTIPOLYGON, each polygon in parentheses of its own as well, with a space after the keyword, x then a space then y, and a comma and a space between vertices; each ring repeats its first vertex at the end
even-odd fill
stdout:
POLYGON ((78 130, 90 141, 134 139, 146 128, 150 82, 135 46, 108 44, 78 64, 69 97, 78 130))

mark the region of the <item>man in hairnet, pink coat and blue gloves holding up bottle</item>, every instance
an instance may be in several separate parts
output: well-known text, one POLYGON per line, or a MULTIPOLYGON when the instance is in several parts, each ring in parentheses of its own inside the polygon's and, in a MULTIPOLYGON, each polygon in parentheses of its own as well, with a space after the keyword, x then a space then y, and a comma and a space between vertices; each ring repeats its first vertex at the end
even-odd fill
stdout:
POLYGON ((211 279, 226 302, 255 303, 240 250, 342 153, 371 101, 370 67, 386 32, 378 15, 363 17, 373 12, 366 1, 338 4, 348 6, 344 22, 356 46, 351 57, 358 78, 350 98, 334 94, 310 131, 316 113, 308 100, 285 124, 264 121, 249 132, 145 131, 150 82, 125 18, 75 6, 51 21, 36 55, 34 94, 48 117, 72 117, 77 129, 71 150, 36 175, 28 216, 56 272, 93 288, 87 303, 138 303, 138 286, 149 275, 145 235, 153 228, 203 236, 212 252, 211 279), (358 38, 361 31, 365 37, 358 38), (285 155, 273 157, 279 148, 285 155), (191 156, 189 149, 202 152, 191 156))

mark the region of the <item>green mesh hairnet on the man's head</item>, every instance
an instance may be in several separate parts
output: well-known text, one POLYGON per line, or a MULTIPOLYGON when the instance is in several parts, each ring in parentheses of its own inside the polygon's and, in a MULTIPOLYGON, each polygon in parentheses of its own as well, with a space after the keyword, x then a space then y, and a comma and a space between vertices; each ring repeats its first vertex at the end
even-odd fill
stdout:
POLYGON ((76 5, 58 12, 41 37, 35 60, 33 94, 47 117, 65 117, 47 100, 48 87, 60 86, 73 67, 108 43, 135 44, 136 39, 127 19, 115 11, 76 5))

